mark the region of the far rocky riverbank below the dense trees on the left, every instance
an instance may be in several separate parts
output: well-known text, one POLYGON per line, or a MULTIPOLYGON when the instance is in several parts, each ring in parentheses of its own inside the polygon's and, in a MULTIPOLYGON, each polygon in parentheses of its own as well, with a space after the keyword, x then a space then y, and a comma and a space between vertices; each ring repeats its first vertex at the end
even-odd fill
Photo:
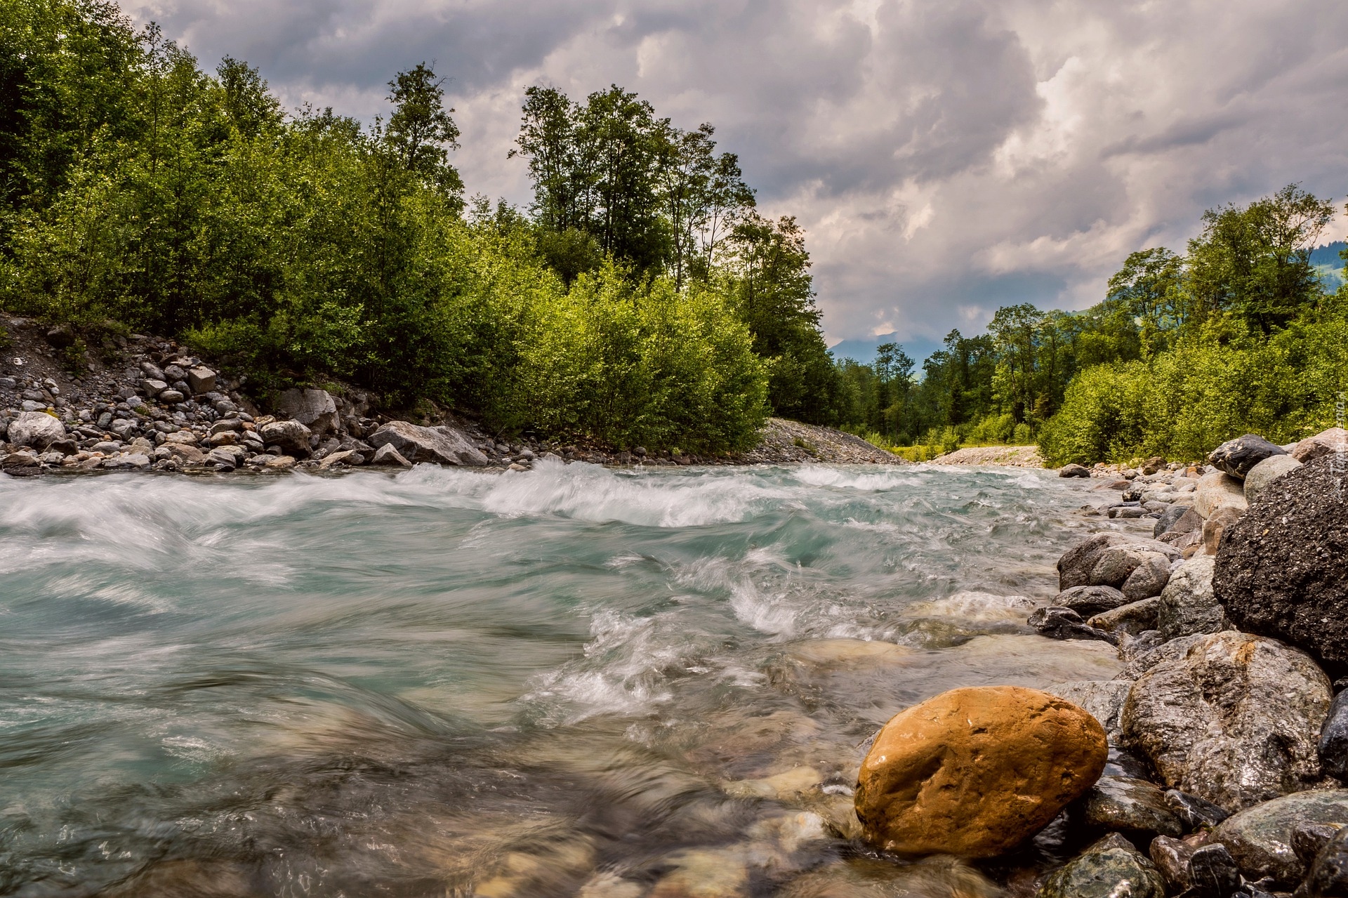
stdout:
POLYGON ((538 460, 605 465, 903 464, 828 427, 770 419, 747 453, 503 438, 472 421, 414 423, 377 410, 359 390, 287 390, 259 409, 245 378, 175 341, 108 337, 97 351, 63 328, 7 318, 0 359, 0 471, 189 473, 340 471, 417 462, 527 471, 538 460))

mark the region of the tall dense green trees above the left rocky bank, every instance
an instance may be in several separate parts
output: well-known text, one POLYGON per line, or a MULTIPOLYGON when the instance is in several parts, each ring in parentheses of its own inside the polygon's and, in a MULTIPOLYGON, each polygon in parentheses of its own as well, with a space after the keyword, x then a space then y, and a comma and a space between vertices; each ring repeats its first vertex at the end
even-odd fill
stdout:
POLYGON ((344 382, 501 433, 743 449, 836 418, 805 237, 714 129, 612 86, 522 97, 534 202, 465 198, 426 65, 369 125, 286 112, 102 0, 0 0, 0 305, 175 336, 266 399, 344 382))

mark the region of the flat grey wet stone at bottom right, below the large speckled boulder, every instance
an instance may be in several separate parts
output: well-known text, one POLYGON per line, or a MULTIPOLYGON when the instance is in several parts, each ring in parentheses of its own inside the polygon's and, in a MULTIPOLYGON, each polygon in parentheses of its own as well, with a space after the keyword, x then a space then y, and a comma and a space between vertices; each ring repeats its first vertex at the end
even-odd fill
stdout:
POLYGON ((1348 790, 1317 789, 1274 798, 1232 814, 1213 831, 1231 851, 1246 879, 1270 876, 1291 889, 1306 864, 1291 847, 1293 832, 1306 822, 1348 822, 1348 790))

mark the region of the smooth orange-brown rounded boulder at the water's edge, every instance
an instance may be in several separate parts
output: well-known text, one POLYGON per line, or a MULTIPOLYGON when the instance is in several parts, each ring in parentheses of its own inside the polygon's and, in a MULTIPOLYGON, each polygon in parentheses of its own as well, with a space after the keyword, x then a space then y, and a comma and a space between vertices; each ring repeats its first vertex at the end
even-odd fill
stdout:
POLYGON ((887 851, 989 858, 1085 793, 1107 756, 1096 719, 1057 696, 952 689, 884 724, 861 762, 856 812, 887 851))

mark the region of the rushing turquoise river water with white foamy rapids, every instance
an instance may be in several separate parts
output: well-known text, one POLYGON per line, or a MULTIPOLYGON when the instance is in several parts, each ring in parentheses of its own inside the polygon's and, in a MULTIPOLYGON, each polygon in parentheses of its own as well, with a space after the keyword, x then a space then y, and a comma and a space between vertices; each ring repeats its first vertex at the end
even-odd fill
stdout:
POLYGON ((844 837, 859 746, 952 686, 1113 676, 1023 624, 1081 500, 929 467, 0 477, 0 894, 992 894, 844 837))

